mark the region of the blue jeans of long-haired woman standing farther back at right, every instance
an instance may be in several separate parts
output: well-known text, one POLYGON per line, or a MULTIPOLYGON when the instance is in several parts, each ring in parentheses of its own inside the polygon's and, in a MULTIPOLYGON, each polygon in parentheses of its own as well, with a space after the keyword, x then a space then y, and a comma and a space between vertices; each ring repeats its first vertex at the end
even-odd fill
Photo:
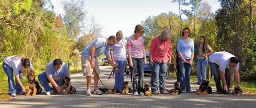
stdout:
POLYGON ((198 83, 202 83, 203 80, 206 79, 206 67, 208 65, 208 60, 207 59, 198 59, 198 66, 197 66, 197 71, 198 71, 198 83), (202 71, 202 75, 201 75, 202 71))

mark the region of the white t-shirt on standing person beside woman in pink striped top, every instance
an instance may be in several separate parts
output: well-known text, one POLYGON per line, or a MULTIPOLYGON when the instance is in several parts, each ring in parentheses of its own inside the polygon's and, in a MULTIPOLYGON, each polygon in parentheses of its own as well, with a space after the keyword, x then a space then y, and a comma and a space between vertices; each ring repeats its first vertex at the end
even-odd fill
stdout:
POLYGON ((110 46, 110 49, 113 49, 113 58, 117 61, 126 60, 126 46, 127 41, 125 39, 121 39, 120 41, 116 41, 115 45, 110 46))

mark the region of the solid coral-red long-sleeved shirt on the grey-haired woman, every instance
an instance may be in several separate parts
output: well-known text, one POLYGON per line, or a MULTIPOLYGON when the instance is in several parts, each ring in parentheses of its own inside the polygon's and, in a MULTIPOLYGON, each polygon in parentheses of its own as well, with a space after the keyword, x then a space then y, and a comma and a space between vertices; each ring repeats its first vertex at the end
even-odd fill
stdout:
POLYGON ((158 36, 152 39, 150 44, 150 55, 157 63, 166 63, 171 57, 171 40, 168 39, 165 43, 159 40, 158 36))

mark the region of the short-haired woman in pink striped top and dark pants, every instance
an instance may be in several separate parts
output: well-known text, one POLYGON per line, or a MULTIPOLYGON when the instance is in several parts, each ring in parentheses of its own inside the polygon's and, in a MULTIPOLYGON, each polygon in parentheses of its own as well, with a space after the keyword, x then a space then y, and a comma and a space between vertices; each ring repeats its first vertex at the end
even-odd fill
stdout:
MULTIPOLYGON (((134 30, 134 35, 127 40, 127 53, 130 62, 130 71, 133 74, 133 95, 144 95, 143 90, 143 72, 144 65, 147 64, 146 53, 144 48, 144 40, 142 35, 145 30, 141 25, 137 25, 134 30), (139 80, 137 85, 136 74, 138 72, 139 80), (139 93, 139 94, 138 94, 139 93)), ((132 77, 131 77, 132 79, 132 77)))

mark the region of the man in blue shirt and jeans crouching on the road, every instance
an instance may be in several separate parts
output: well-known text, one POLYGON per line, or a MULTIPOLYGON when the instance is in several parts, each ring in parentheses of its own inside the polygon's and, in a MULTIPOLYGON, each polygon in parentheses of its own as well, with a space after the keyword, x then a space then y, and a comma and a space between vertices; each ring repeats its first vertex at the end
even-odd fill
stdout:
MULTIPOLYGON (((51 95, 53 91, 49 86, 49 82, 51 82, 52 87, 56 88, 58 93, 61 93, 61 85, 63 83, 64 76, 70 78, 69 69, 67 65, 60 59, 55 59, 54 61, 51 61, 47 64, 46 72, 39 74, 38 79, 47 91, 46 95, 51 95)), ((70 87, 71 82, 68 83, 68 87, 66 90, 69 91, 70 87)))

